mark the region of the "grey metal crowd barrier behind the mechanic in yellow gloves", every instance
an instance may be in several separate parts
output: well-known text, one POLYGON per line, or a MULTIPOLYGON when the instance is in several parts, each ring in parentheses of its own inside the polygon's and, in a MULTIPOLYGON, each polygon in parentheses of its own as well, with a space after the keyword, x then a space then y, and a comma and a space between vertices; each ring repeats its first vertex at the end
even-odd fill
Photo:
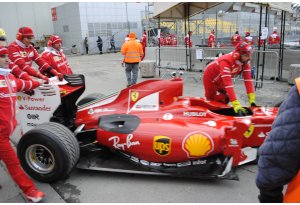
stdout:
MULTIPOLYGON (((185 72, 184 76, 192 77, 197 81, 198 77, 195 77, 199 73, 201 78, 202 72, 206 65, 217 56, 222 53, 226 54, 232 52, 234 48, 208 48, 208 47, 160 47, 156 49, 156 63, 159 67, 159 73, 161 78, 168 78, 174 75, 173 72, 179 73, 185 72), (160 58, 159 58, 160 56, 160 58)), ((276 50, 254 50, 251 59, 251 66, 253 68, 252 74, 255 78, 255 87, 261 88, 263 83, 274 83, 278 78, 278 60, 279 55, 276 50), (257 65, 257 59, 260 55, 260 60, 257 65), (271 80, 271 81, 266 81, 271 80)), ((242 79, 237 77, 234 80, 242 79)))

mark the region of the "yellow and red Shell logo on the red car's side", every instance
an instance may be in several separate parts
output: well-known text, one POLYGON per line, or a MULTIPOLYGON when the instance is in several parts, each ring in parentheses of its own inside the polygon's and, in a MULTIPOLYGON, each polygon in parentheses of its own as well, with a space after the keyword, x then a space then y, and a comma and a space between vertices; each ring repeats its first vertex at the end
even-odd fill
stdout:
POLYGON ((214 144, 208 134, 194 132, 184 138, 182 148, 189 158, 204 157, 214 150, 214 144))

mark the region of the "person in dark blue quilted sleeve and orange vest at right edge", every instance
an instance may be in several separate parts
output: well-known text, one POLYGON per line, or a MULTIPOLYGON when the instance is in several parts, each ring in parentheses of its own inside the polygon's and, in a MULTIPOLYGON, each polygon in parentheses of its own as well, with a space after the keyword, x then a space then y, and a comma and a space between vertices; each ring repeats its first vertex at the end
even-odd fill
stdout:
POLYGON ((282 102, 259 149, 256 185, 259 201, 300 202, 300 78, 282 102), (285 195, 283 187, 288 184, 285 195))

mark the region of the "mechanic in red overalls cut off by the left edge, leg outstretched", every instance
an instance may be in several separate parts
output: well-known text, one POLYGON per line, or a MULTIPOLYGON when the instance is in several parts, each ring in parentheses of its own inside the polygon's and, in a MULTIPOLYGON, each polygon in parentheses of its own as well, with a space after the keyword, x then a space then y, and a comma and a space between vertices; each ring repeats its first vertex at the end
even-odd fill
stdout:
POLYGON ((32 202, 43 199, 45 194, 39 191, 32 180, 21 169, 19 159, 12 148, 9 138, 16 128, 16 92, 29 91, 40 84, 25 81, 10 74, 7 48, 0 46, 0 159, 26 198, 32 202))

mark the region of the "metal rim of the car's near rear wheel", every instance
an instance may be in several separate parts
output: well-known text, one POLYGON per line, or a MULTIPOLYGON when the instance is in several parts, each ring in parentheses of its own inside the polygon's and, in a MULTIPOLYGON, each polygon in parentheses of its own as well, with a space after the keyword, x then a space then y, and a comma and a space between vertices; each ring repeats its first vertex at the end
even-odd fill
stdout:
POLYGON ((55 159, 52 152, 41 144, 28 147, 25 156, 27 164, 37 173, 48 174, 54 169, 55 159))

